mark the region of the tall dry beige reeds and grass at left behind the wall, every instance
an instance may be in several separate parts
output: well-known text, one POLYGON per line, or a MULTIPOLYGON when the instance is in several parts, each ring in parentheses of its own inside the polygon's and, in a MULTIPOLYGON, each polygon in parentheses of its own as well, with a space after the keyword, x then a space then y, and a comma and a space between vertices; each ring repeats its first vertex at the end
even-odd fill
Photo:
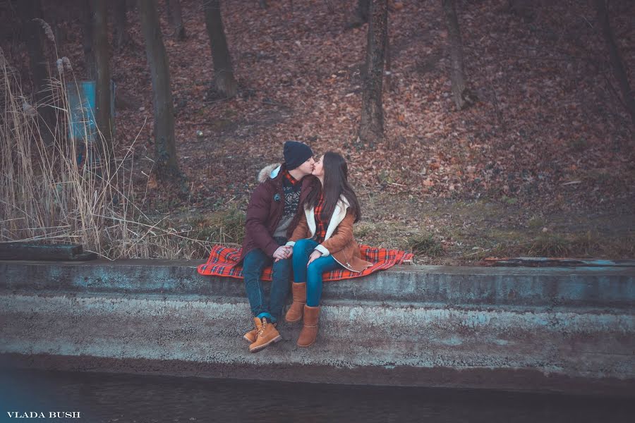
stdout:
POLYGON ((87 119, 83 140, 69 137, 66 87, 75 78, 70 61, 58 61, 63 66, 49 80, 43 104, 33 104, 0 51, 0 242, 79 243, 108 259, 200 258, 209 251, 208 240, 152 221, 138 207, 143 198, 135 197, 132 183, 136 140, 117 149, 123 152, 113 161, 102 162, 102 143, 87 141, 87 119), (56 117, 52 125, 40 118, 47 107, 56 117), (78 161, 82 153, 88 159, 78 161))

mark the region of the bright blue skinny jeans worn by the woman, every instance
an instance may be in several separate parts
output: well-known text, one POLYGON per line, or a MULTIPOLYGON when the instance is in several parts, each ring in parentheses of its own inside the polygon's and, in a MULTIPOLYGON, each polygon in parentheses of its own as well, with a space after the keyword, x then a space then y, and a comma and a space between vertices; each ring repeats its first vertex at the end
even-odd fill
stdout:
POLYGON ((317 247, 314 240, 298 240, 294 245, 294 282, 306 282, 306 305, 317 307, 322 298, 322 274, 341 268, 341 264, 335 261, 332 255, 313 260, 308 266, 309 256, 317 247))

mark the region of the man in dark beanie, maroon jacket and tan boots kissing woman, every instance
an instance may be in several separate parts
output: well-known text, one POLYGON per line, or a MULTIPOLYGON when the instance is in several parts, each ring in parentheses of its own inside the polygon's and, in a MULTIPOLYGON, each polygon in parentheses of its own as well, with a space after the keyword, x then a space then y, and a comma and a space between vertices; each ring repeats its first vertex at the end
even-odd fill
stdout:
POLYGON ((289 294, 291 248, 285 247, 300 220, 299 205, 311 190, 313 152, 296 141, 284 143, 284 163, 260 171, 260 184, 247 207, 246 233, 243 240, 243 276, 255 329, 244 338, 256 353, 282 337, 276 329, 289 294), (305 178, 308 176, 308 178, 305 178), (260 275, 272 264, 270 299, 262 289, 260 275))

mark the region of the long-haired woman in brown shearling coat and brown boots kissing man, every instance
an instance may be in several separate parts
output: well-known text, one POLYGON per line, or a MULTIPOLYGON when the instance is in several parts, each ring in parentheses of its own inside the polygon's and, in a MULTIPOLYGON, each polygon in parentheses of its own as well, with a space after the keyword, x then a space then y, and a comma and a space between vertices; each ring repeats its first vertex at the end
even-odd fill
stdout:
POLYGON ((308 347, 317 337, 320 314, 322 273, 334 269, 361 272, 369 262, 361 259, 359 246, 353 239, 353 223, 361 217, 359 202, 347 180, 346 161, 339 154, 327 152, 315 163, 313 175, 320 180, 303 204, 304 214, 286 243, 293 247, 294 302, 286 313, 286 321, 299 321, 304 326, 298 346, 308 347))

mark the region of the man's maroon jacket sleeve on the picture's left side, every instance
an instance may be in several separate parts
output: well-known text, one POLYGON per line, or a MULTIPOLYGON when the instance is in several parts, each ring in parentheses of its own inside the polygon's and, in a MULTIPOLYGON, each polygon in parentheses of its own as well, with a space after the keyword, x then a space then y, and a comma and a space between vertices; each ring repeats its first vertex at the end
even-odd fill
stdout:
POLYGON ((273 257, 279 245, 267 229, 271 201, 272 196, 269 195, 265 186, 258 185, 249 200, 245 226, 258 248, 273 257))

